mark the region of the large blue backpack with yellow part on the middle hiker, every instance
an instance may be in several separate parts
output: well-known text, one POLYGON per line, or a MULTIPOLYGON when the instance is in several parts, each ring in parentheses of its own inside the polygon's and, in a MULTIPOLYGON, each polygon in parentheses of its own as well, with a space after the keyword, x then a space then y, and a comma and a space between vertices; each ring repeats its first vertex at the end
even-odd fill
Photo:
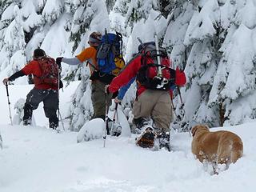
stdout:
MULTIPOLYGON (((114 78, 125 66, 122 58, 122 34, 106 33, 97 50, 98 70, 101 74, 108 74, 114 78)), ((111 79, 112 80, 112 79, 111 79)))

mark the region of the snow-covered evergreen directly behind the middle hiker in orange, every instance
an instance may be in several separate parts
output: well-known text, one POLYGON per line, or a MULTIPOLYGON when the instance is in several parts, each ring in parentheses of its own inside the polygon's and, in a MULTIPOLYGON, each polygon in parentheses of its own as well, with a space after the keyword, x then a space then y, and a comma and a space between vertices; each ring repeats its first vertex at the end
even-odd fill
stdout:
MULTIPOLYGON (((110 21, 104 1, 81 1, 74 4, 74 22, 71 28, 70 41, 74 42, 74 54, 79 53, 88 44, 88 37, 91 32, 102 32, 110 28, 110 21)), ((70 73, 67 79, 80 77, 81 83, 74 93, 74 99, 70 106, 71 125, 70 130, 80 130, 84 122, 88 121, 93 112, 90 97, 90 73, 86 64, 78 66, 77 70, 70 73), (85 69, 86 68, 86 69, 85 69), (86 100, 84 99, 86 98, 86 100), (78 113, 80 111, 81 113, 78 113)))

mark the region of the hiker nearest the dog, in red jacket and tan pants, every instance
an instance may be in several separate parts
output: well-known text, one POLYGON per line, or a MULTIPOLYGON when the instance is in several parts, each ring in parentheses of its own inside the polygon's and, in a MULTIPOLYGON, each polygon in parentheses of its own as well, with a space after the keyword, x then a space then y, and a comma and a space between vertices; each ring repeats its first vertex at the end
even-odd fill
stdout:
POLYGON ((165 142, 170 142, 170 123, 173 120, 170 88, 174 84, 183 86, 186 83, 184 72, 170 69, 170 58, 166 50, 160 48, 159 54, 156 51, 154 42, 141 45, 140 54, 106 87, 106 92, 114 93, 136 77, 138 90, 132 112, 136 130, 142 133, 137 139, 137 144, 142 147, 153 147, 156 137, 166 138, 165 142), (160 56, 160 64, 157 62, 157 56, 160 56), (161 76, 158 75, 159 69, 161 76), (154 126, 151 125, 150 118, 154 126))

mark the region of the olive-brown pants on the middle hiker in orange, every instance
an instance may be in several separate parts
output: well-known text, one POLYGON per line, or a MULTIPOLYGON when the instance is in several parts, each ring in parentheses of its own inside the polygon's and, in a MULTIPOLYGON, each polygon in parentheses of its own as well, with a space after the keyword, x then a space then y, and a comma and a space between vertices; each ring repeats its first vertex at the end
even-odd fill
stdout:
MULTIPOLYGON (((98 80, 91 82, 91 100, 94 106, 94 118, 105 118, 106 115, 106 84, 98 80)), ((109 99, 108 105, 111 105, 109 99)))

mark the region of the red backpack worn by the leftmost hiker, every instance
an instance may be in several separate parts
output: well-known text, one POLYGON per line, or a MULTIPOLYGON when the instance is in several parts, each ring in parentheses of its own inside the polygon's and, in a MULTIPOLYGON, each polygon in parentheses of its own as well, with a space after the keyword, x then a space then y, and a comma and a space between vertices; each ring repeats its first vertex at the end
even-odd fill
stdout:
POLYGON ((58 86, 58 65, 54 58, 41 57, 37 58, 37 61, 42 71, 42 76, 37 77, 40 82, 51 86, 58 86))

